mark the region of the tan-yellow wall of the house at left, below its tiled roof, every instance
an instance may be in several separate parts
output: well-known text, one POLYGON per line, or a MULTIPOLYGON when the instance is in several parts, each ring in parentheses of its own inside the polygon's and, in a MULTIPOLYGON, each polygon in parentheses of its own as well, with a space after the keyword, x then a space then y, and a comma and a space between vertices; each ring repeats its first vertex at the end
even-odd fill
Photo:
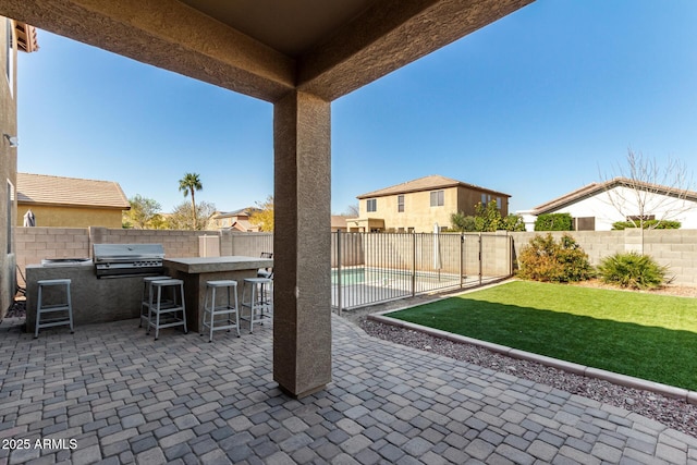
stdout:
POLYGON ((16 225, 24 224, 24 213, 32 209, 37 227, 51 228, 121 228, 122 210, 98 207, 63 207, 48 205, 19 205, 16 225))

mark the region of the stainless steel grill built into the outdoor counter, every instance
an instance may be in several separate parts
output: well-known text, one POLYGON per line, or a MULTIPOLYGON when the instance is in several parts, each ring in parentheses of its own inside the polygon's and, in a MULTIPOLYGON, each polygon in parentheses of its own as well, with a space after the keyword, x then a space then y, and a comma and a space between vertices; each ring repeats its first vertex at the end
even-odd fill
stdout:
POLYGON ((97 278, 118 278, 162 272, 161 244, 95 244, 97 278))

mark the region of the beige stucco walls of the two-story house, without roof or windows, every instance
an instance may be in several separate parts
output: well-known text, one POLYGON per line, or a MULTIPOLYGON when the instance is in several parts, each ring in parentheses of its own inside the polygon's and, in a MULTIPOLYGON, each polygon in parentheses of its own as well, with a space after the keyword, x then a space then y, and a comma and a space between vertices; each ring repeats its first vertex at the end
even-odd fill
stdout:
MULTIPOLYGON (((450 228, 450 217, 457 211, 465 215, 474 215, 475 206, 481 201, 482 194, 489 200, 500 199, 501 216, 509 215, 509 200, 506 196, 491 194, 485 189, 473 189, 463 186, 435 188, 429 191, 393 194, 380 197, 362 198, 359 200, 359 219, 380 219, 384 221, 383 230, 388 232, 433 232, 433 224, 450 228), (430 205, 432 192, 443 191, 443 205, 430 205), (404 196, 404 211, 399 211, 399 197, 404 196), (375 198, 376 211, 368 211, 368 200, 375 198)), ((364 222, 364 224, 366 224, 364 222)), ((368 231, 366 231, 368 232, 368 231)))

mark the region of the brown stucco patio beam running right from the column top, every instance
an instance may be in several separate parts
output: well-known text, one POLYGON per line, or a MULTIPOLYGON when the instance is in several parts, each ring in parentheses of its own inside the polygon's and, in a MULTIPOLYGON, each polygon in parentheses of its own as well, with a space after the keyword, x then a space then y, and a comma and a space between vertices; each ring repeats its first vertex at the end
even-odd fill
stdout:
POLYGON ((298 59, 297 88, 333 101, 534 0, 383 0, 298 59))

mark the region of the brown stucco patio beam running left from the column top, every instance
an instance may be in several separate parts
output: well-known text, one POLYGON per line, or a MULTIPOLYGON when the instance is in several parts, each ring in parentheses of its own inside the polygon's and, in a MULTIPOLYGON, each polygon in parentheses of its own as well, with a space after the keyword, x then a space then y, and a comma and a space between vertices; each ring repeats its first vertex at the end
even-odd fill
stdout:
POLYGON ((295 61, 175 0, 3 0, 0 15, 250 97, 295 87, 295 61))

